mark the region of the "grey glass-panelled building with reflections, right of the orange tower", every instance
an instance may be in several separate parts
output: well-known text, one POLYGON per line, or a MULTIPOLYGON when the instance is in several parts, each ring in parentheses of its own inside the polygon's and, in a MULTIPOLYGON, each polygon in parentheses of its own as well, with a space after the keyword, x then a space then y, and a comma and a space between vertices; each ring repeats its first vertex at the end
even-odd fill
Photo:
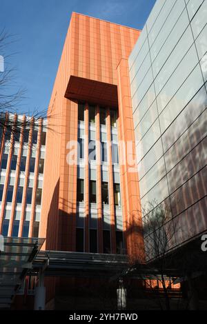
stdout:
POLYGON ((206 17, 207 1, 156 1, 129 57, 143 221, 168 206, 170 247, 207 230, 206 17))

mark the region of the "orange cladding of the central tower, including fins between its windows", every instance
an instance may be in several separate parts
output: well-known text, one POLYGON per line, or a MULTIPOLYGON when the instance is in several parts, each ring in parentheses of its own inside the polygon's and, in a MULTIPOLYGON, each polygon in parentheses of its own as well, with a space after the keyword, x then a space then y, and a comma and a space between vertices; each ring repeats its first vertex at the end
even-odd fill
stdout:
MULTIPOLYGON (((77 214, 77 163, 68 165, 67 143, 77 141, 78 101, 85 107, 85 252, 89 252, 88 194, 88 103, 96 105, 96 140, 100 139, 99 106, 106 107, 106 129, 110 141, 109 108, 117 108, 119 141, 135 141, 127 58, 140 31, 115 23, 72 13, 70 27, 61 55, 55 85, 48 108, 48 134, 43 183, 39 237, 45 237, 43 250, 75 251, 77 214)), ((135 145, 132 144, 135 155, 135 145)), ((97 161, 100 161, 99 146, 97 161)), ((110 200, 111 252, 116 252, 115 203, 112 179, 112 156, 108 150, 108 185, 110 200)), ((124 152, 119 148, 119 159, 124 152)), ((75 153, 77 160, 77 152, 75 153)), ((140 254, 143 248, 139 213, 137 172, 120 166, 120 185, 124 235, 128 254, 140 254), (133 243, 135 242, 136 243, 133 243), (137 249, 139 252, 137 252, 137 249)), ((97 241, 103 252, 101 212, 101 167, 97 163, 97 241)))

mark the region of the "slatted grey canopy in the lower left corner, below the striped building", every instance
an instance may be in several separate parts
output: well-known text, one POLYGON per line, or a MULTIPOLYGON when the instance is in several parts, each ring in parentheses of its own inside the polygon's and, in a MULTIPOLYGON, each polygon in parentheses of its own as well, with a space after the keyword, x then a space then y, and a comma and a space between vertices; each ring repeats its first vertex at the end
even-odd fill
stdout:
POLYGON ((0 251, 0 307, 10 307, 12 299, 32 267, 44 239, 5 237, 0 251))

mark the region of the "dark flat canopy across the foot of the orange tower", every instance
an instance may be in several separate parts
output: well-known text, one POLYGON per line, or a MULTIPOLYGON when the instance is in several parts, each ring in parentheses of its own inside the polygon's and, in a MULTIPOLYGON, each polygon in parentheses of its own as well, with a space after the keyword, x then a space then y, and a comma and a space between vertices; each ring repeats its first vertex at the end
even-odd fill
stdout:
POLYGON ((45 276, 104 278, 126 267, 128 267, 126 255, 40 251, 34 259, 30 274, 35 274, 43 268, 45 276))

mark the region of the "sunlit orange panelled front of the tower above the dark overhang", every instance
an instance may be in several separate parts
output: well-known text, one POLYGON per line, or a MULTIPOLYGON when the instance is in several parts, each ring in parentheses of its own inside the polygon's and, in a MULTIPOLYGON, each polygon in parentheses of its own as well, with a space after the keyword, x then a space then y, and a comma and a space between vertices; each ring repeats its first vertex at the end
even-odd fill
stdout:
POLYGON ((71 74, 117 84, 116 68, 128 57, 140 31, 73 13, 71 74))

